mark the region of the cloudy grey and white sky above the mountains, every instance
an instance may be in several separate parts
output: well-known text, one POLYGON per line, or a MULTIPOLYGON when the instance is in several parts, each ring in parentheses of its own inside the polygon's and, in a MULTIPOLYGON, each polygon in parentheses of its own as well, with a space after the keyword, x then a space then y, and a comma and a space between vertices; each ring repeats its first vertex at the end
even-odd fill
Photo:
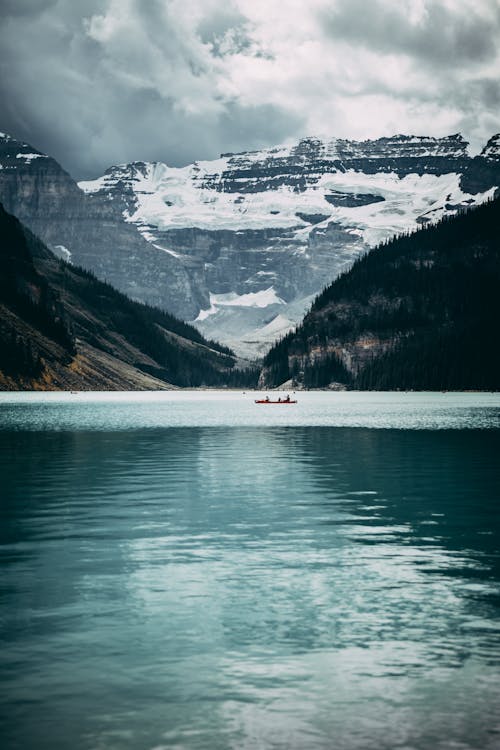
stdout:
POLYGON ((0 130, 75 178, 500 131, 499 0, 0 0, 0 130))

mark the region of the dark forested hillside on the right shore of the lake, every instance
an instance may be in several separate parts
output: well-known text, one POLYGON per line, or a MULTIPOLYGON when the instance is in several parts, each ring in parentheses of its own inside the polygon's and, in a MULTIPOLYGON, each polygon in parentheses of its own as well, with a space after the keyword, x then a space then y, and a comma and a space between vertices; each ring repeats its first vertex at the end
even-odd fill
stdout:
POLYGON ((262 384, 497 389, 499 221, 496 198, 356 261, 269 352, 262 384))

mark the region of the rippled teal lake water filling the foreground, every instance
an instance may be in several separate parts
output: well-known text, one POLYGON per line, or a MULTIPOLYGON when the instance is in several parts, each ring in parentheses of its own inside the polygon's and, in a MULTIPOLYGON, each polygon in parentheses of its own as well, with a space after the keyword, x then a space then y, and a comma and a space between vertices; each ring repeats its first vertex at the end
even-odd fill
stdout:
POLYGON ((2 748, 500 748, 500 395, 254 398, 0 395, 2 748))

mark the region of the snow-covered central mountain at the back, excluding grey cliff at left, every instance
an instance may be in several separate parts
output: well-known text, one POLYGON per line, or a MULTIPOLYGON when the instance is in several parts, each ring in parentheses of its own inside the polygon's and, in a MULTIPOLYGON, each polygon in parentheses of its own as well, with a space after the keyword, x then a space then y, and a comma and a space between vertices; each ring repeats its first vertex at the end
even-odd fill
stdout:
MULTIPOLYGON (((484 157, 497 148, 492 139, 484 157)), ((267 344, 274 320, 280 333, 293 327, 361 252, 493 195, 494 186, 463 189, 470 161, 460 135, 307 138, 182 168, 119 165, 79 186, 118 203, 156 249, 201 262, 207 302, 194 322, 248 354, 267 344)))

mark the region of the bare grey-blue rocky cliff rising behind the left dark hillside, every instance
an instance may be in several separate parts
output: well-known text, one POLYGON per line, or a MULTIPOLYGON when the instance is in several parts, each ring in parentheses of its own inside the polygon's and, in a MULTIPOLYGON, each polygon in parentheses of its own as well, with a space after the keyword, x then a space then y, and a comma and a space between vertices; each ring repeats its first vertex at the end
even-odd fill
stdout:
POLYGON ((132 299, 195 317, 205 301, 186 268, 124 221, 119 202, 87 196, 52 158, 0 134, 0 201, 64 260, 132 299))

